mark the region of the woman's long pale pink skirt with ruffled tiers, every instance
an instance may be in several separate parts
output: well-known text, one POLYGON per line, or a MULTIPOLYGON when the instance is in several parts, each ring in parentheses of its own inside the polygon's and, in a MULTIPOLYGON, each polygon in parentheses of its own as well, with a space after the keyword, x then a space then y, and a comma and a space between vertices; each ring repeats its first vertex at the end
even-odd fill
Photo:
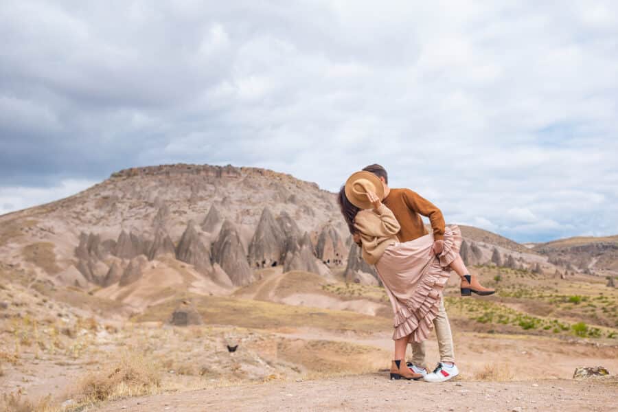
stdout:
POLYGON ((395 314, 393 340, 410 336, 422 342, 433 329, 444 285, 450 277, 448 265, 459 255, 461 230, 449 225, 444 231, 444 250, 433 254, 433 233, 389 246, 376 263, 395 314))

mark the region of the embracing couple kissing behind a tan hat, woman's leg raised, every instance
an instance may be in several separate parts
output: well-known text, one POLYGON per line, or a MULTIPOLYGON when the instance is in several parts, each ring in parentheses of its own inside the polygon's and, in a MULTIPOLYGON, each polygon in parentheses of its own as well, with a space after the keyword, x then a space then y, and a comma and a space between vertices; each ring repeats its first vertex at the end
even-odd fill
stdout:
POLYGON ((409 189, 391 189, 380 165, 369 165, 347 179, 339 192, 339 206, 363 260, 376 267, 395 316, 395 356, 391 379, 444 382, 459 374, 453 334, 442 290, 453 270, 461 277, 461 295, 491 295, 479 284, 459 256, 461 231, 446 227, 435 205, 409 189), (431 221, 425 229, 422 216, 431 221), (440 362, 433 372, 425 367, 424 341, 435 327, 440 362), (411 343, 413 358, 406 362, 411 343))

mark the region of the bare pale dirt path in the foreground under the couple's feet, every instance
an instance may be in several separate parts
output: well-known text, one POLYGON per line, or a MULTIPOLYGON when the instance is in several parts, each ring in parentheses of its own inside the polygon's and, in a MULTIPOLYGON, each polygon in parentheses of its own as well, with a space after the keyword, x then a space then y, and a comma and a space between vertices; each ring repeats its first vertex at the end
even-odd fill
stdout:
POLYGON ((385 373, 164 393, 106 404, 111 411, 616 411, 617 380, 445 382, 385 373))

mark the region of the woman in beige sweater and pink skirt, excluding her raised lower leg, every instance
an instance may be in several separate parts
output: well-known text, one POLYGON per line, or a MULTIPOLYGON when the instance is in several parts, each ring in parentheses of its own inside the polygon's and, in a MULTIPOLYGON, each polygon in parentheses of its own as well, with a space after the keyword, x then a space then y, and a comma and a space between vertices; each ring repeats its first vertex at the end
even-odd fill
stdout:
POLYGON ((382 196, 382 183, 375 174, 356 172, 341 187, 339 205, 350 233, 363 249, 363 260, 376 266, 393 307, 391 379, 417 380, 422 375, 405 362, 407 344, 428 338, 451 266, 461 276, 467 273, 459 257, 461 232, 457 226, 446 227, 439 255, 433 252, 432 234, 400 243, 396 236, 399 222, 382 204, 382 196))

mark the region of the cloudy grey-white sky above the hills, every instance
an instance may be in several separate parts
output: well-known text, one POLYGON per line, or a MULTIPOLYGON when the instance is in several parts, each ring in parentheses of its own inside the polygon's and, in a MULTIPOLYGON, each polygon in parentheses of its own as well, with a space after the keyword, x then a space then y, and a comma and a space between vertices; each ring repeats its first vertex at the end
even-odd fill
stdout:
POLYGON ((553 4, 1 1, 0 214, 137 165, 381 163, 449 222, 616 234, 618 3, 553 4))

